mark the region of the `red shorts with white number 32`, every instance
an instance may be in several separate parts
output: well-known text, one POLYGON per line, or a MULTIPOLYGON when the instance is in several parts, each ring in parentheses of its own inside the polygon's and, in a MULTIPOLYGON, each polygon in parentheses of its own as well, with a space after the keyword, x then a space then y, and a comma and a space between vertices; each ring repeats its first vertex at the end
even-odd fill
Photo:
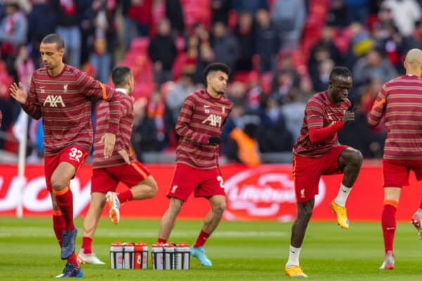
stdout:
MULTIPOLYGON (((77 170, 84 164, 87 159, 88 152, 85 152, 83 148, 79 148, 77 145, 70 145, 70 147, 65 148, 58 152, 53 157, 44 157, 44 171, 46 174, 46 185, 47 190, 53 190, 51 186, 51 176, 56 170, 58 164, 61 162, 68 162, 75 167, 75 174, 77 170)), ((74 175, 75 176, 75 175, 74 175)))

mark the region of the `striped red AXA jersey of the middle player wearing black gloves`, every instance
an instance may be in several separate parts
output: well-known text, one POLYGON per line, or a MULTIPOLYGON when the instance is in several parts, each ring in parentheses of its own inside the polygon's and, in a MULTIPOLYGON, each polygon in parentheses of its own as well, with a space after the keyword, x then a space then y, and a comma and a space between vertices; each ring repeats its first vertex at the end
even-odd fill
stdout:
POLYGON ((212 98, 207 91, 189 94, 177 118, 180 136, 176 162, 198 169, 217 167, 218 145, 208 145, 211 136, 220 137, 233 104, 225 96, 212 98))

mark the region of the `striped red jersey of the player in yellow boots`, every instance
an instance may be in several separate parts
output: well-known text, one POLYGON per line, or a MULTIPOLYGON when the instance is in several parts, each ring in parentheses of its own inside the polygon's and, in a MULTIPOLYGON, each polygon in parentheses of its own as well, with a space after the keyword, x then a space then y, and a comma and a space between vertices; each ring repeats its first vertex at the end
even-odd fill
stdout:
POLYGON ((343 119, 345 110, 350 107, 350 104, 350 100, 340 104, 332 103, 328 91, 316 93, 309 98, 300 136, 293 146, 293 153, 302 157, 320 157, 333 146, 338 145, 337 133, 326 141, 312 143, 309 139, 309 130, 325 128, 343 119))

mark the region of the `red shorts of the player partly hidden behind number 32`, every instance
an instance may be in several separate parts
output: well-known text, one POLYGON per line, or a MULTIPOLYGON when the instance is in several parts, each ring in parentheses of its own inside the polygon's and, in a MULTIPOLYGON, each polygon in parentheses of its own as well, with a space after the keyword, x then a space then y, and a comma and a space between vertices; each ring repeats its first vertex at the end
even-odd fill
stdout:
POLYGON ((132 186, 137 185, 148 178, 148 176, 151 176, 148 168, 136 160, 130 165, 122 164, 92 169, 91 193, 115 192, 120 181, 127 185, 128 188, 132 188, 132 186))

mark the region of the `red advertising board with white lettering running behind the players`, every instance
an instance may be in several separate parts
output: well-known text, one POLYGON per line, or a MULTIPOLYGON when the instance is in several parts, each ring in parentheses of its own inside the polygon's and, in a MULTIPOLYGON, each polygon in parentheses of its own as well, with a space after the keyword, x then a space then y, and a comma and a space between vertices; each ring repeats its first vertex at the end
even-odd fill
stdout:
MULTIPOLYGON (((160 218, 168 206, 165 197, 174 165, 148 165, 158 182, 158 194, 151 200, 127 202, 122 206, 122 217, 160 218)), ((295 195, 293 192, 292 166, 289 164, 262 165, 248 169, 230 164, 221 166, 227 193, 227 220, 291 220, 295 217, 295 195)), ((0 216, 15 216, 20 197, 18 166, 0 165, 0 216)), ((46 191, 44 166, 26 166, 26 184, 22 199, 24 216, 50 216, 51 200, 46 191)), ((378 221, 383 208, 382 169, 378 166, 363 166, 359 178, 347 200, 347 213, 351 220, 378 221)), ((75 203, 75 214, 84 216, 90 200, 91 166, 84 165, 70 187, 75 203)), ((333 220, 328 208, 337 195, 342 176, 323 176, 319 184, 312 219, 333 220)), ((411 175, 411 187, 404 187, 397 211, 397 219, 410 220, 421 200, 421 183, 411 175)), ((119 185, 117 191, 124 190, 119 185)), ((203 218, 210 205, 203 198, 190 197, 184 204, 179 218, 203 218)), ((107 215, 105 208, 103 215, 107 215)))

